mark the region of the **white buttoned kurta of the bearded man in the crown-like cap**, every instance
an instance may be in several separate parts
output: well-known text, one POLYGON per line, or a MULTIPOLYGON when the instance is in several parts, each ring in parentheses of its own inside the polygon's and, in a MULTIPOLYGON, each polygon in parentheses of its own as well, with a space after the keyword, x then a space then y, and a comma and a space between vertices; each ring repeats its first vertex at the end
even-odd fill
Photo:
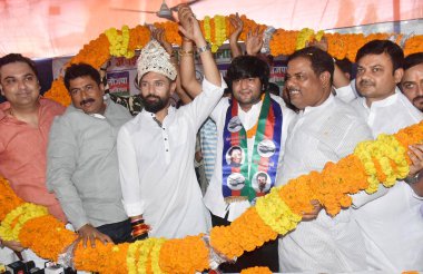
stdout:
POLYGON ((149 236, 180 238, 206 233, 210 227, 194 155, 196 134, 224 88, 204 80, 203 92, 179 109, 169 107, 161 126, 154 114, 142 110, 120 129, 118 155, 125 209, 129 216, 142 214, 151 226, 149 236))

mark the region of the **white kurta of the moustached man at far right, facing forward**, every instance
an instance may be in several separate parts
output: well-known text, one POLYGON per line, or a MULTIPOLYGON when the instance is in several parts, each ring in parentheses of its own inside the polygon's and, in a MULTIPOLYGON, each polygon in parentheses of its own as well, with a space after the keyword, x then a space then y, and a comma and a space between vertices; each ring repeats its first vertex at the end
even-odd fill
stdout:
MULTIPOLYGON (((370 125, 373 136, 394 134, 419 123, 423 114, 400 90, 368 108, 364 98, 353 102, 370 125)), ((421 197, 404 182, 386 195, 354 211, 365 237, 367 262, 374 270, 400 273, 423 271, 423 206, 421 197)))

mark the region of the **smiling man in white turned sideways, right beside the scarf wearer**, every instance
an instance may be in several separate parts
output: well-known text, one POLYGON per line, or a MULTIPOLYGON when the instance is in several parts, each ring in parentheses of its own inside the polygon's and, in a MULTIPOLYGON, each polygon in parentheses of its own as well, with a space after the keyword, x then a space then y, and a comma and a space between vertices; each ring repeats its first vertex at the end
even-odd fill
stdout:
MULTIPOLYGON (((334 63, 326 51, 304 48, 287 65, 288 96, 299 112, 288 129, 277 185, 322 170, 327 162, 340 160, 357 143, 372 138, 354 109, 332 94, 334 63)), ((312 205, 314 211, 303 215, 296 229, 281 237, 279 267, 288 272, 365 270, 363 237, 350 209, 331 217, 317 200, 312 205)))

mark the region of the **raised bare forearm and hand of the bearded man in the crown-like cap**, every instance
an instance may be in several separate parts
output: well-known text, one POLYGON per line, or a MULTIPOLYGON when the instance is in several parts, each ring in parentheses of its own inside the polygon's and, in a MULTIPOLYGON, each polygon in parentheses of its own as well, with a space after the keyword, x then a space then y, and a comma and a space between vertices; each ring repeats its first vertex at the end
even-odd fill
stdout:
POLYGON ((178 9, 179 30, 180 32, 193 40, 197 46, 199 57, 201 59, 205 78, 213 85, 220 87, 222 77, 213 58, 209 45, 206 42, 201 33, 201 29, 191 9, 188 6, 180 6, 178 9))

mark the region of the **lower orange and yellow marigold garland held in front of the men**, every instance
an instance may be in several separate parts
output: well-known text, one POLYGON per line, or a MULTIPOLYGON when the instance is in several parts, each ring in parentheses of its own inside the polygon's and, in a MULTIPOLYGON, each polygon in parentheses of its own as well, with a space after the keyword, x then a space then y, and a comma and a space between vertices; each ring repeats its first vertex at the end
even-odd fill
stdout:
MULTIPOLYGON (((406 148, 422 140, 423 121, 393 136, 381 135, 374 141, 360 143, 353 154, 337 164, 327 163, 321 173, 311 172, 274 187, 229 226, 212 228, 208 241, 205 235, 197 235, 119 245, 98 242, 96 248, 83 248, 79 244, 73 263, 78 270, 100 273, 194 273, 207 270, 213 264, 210 253, 233 260, 294 229, 301 222, 301 212, 311 209, 312 199, 317 199, 334 216, 351 206, 348 194, 371 193, 375 180, 392 186, 395 179, 404 178, 410 172, 406 148)), ((65 229, 63 224, 52 216, 45 215, 40 206, 36 207, 35 211, 40 212, 36 215, 20 211, 26 205, 0 177, 0 237, 20 241, 41 257, 57 260, 77 235, 65 229), (30 217, 20 219, 21 215, 30 217), (16 234, 17 225, 20 227, 16 234)), ((266 270, 260 271, 265 273, 266 270)))

